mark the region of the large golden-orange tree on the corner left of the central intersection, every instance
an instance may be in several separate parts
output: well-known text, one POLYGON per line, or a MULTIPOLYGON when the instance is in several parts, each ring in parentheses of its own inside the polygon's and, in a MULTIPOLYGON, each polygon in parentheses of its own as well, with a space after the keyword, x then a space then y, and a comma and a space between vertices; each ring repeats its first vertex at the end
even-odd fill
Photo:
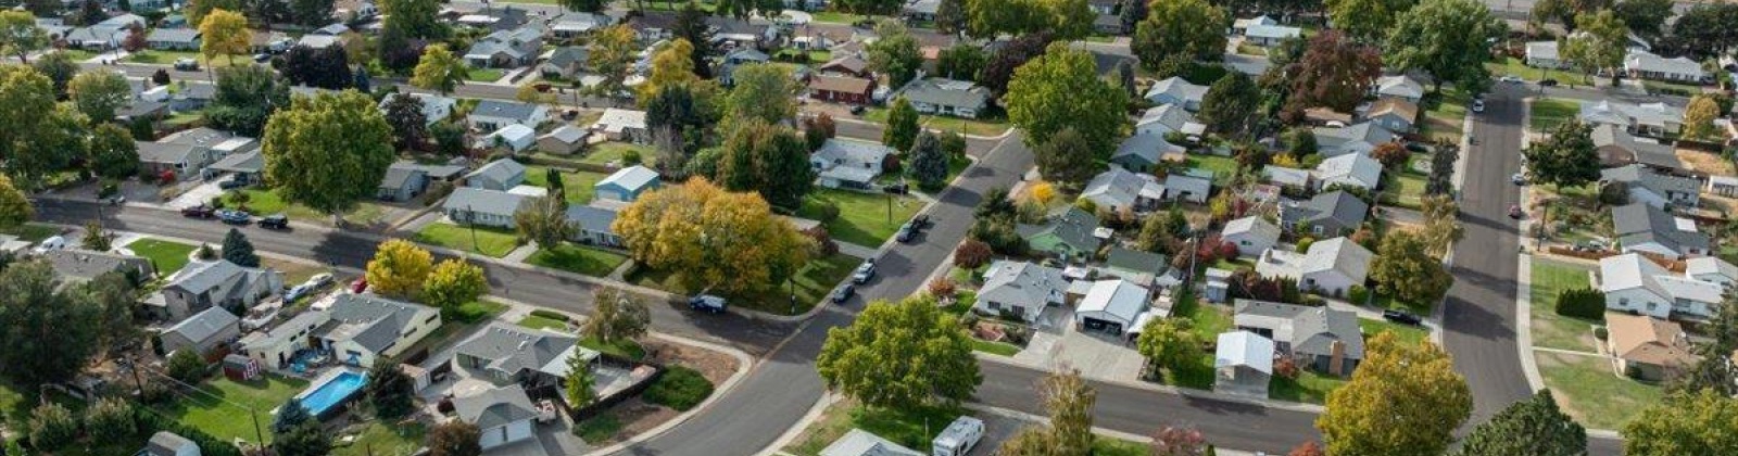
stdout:
POLYGON ((641 195, 612 226, 627 252, 673 272, 687 289, 770 291, 808 261, 810 240, 754 193, 695 178, 641 195))

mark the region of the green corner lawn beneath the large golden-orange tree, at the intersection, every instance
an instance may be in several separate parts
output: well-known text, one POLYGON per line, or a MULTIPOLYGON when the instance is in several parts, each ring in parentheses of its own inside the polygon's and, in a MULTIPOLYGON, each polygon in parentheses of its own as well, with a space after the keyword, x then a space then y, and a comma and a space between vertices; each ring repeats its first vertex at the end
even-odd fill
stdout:
MULTIPOLYGON (((855 270, 857 265, 860 263, 862 259, 848 254, 833 254, 827 258, 810 259, 808 265, 803 265, 803 268, 796 272, 796 278, 791 280, 796 284, 794 312, 791 308, 789 289, 786 284, 779 284, 777 292, 766 292, 758 296, 725 294, 725 298, 733 306, 746 306, 779 315, 803 313, 813 308, 813 305, 820 303, 820 299, 826 298, 827 292, 833 292, 833 287, 836 287, 839 282, 845 282, 845 278, 852 275, 852 270, 855 270)), ((629 284, 634 285, 662 289, 674 294, 697 292, 685 289, 681 285, 681 280, 678 280, 674 273, 652 268, 638 268, 626 278, 629 284)))

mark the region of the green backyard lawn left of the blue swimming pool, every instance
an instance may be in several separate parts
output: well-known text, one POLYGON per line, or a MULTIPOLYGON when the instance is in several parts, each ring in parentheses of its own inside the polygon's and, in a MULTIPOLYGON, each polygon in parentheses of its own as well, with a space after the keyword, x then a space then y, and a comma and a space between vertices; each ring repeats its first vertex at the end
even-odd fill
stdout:
POLYGON ((257 442, 254 419, 249 411, 235 404, 254 409, 264 439, 271 440, 271 409, 308 388, 306 379, 266 376, 249 383, 236 383, 222 376, 214 376, 200 386, 200 392, 182 393, 179 400, 160 406, 158 411, 182 425, 203 430, 222 440, 257 442))

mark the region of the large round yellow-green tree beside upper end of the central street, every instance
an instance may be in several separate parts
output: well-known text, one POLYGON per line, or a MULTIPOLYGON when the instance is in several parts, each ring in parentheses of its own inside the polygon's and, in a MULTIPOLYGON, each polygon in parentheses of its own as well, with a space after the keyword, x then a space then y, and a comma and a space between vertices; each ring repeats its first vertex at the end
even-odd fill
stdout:
POLYGON ((1045 56, 1015 70, 1003 103, 1008 120, 1025 131, 1025 144, 1043 144, 1074 129, 1086 137, 1093 157, 1109 158, 1128 122, 1128 94, 1097 75, 1091 52, 1067 44, 1053 44, 1045 56))

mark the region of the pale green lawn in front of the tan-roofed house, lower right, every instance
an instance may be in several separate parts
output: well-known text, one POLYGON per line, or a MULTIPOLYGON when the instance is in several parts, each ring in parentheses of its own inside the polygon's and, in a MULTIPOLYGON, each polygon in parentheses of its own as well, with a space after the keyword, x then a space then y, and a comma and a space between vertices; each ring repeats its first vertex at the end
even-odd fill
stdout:
POLYGON ((1656 385, 1616 376, 1604 357, 1578 357, 1535 352, 1545 386, 1557 395, 1562 411, 1587 428, 1616 430, 1658 404, 1663 392, 1656 385))

